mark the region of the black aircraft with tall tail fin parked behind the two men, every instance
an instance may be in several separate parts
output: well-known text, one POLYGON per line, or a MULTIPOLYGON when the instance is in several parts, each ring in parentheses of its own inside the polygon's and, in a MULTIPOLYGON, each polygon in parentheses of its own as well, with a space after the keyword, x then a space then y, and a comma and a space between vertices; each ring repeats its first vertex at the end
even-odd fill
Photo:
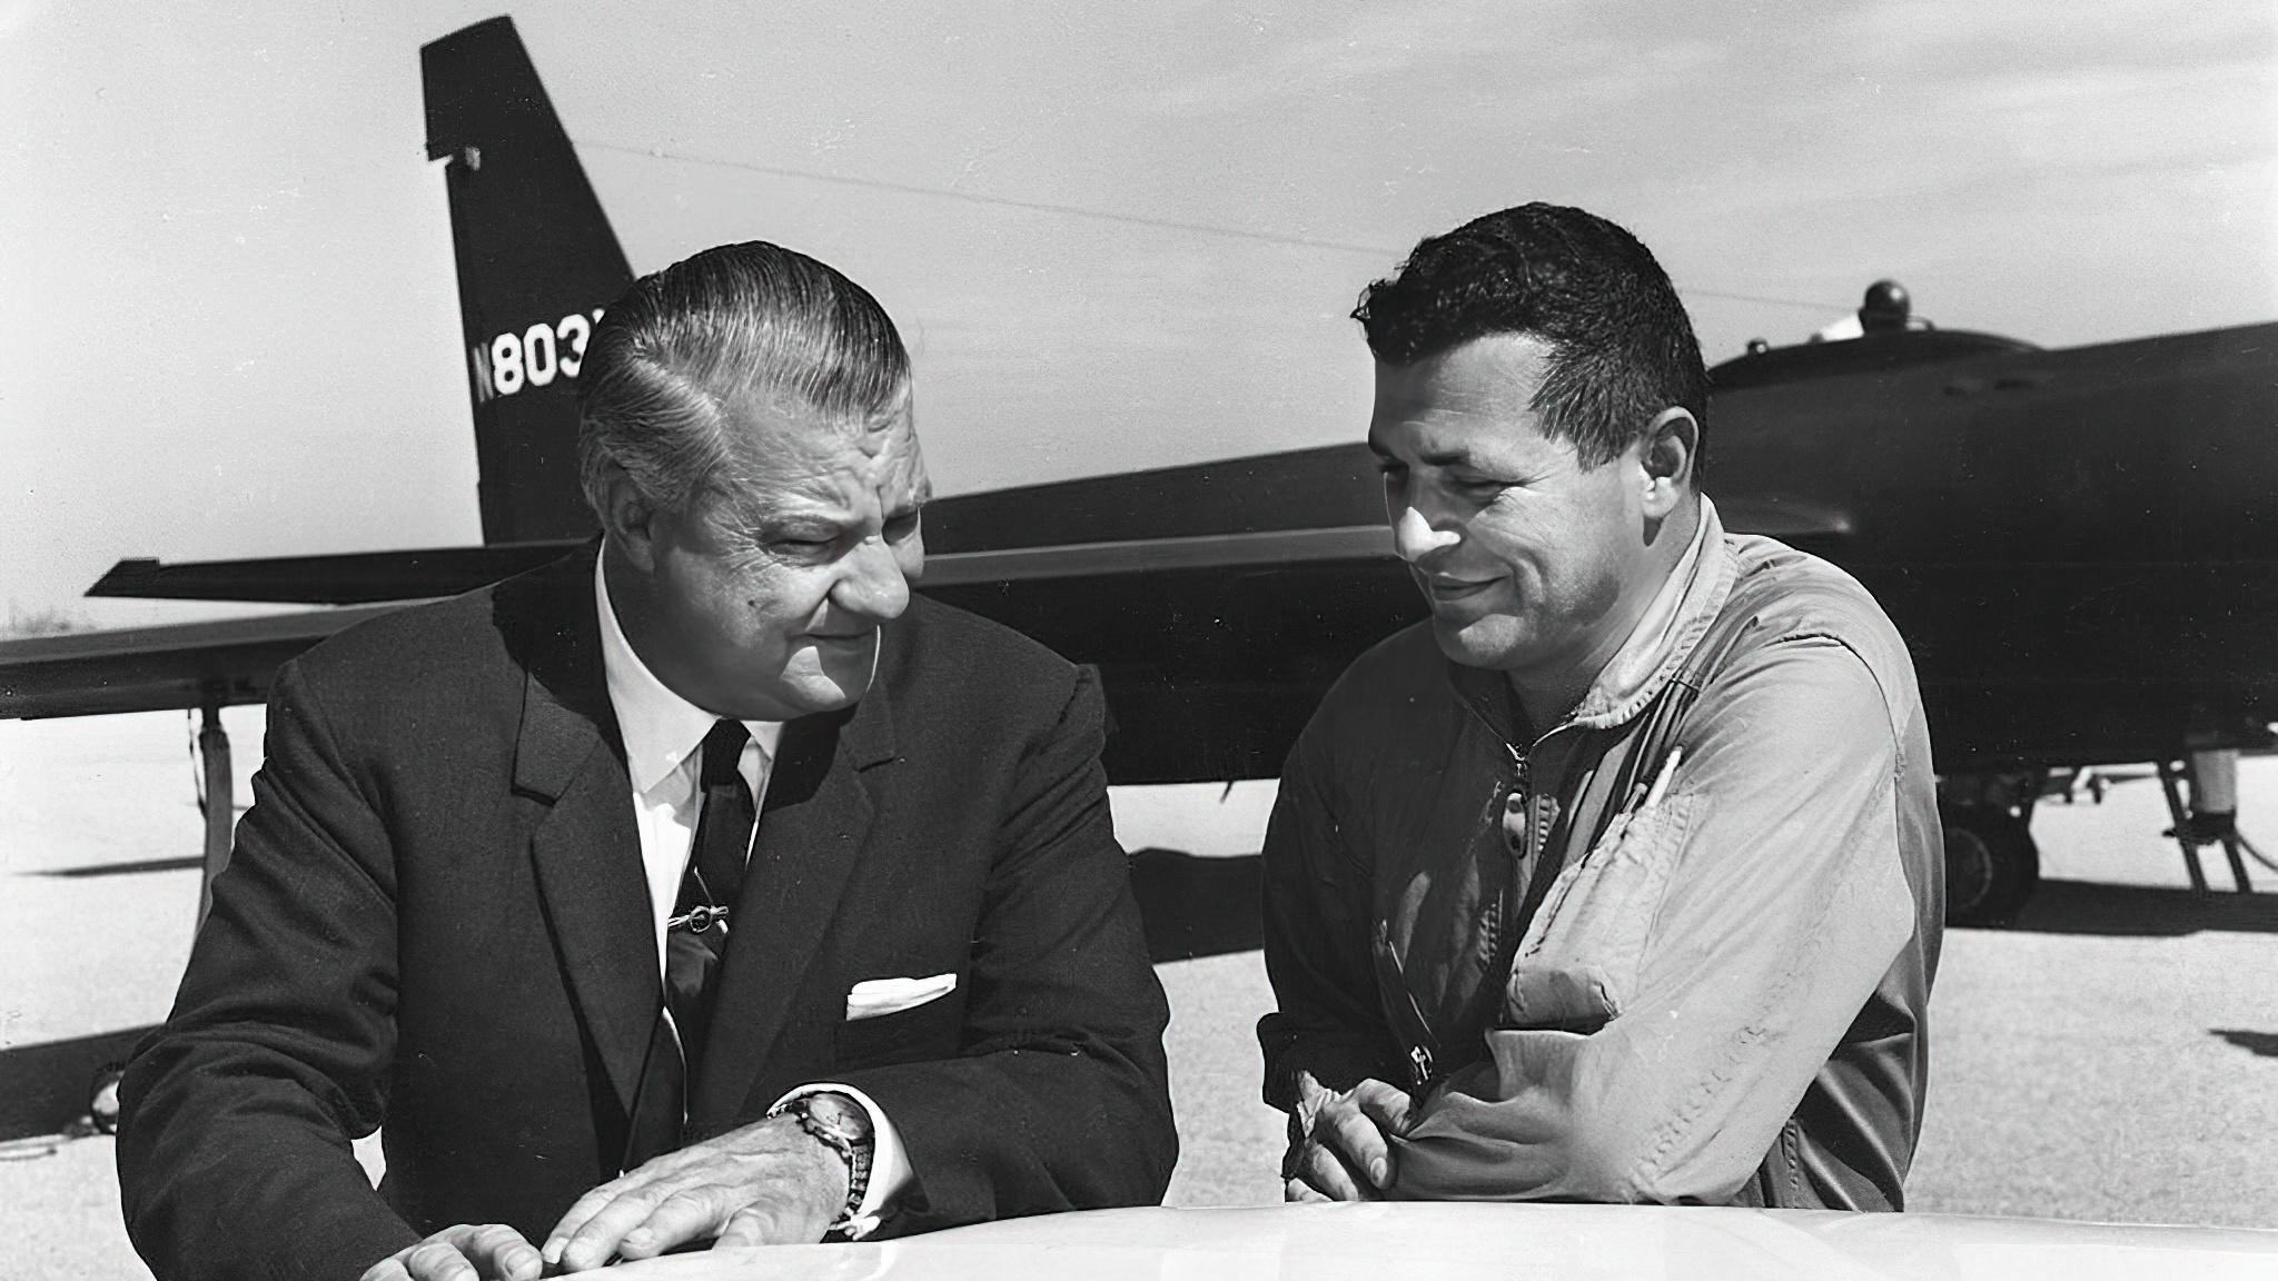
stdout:
MULTIPOLYGON (((481 460, 483 547, 121 561, 91 595, 355 604, 0 643, 0 716, 262 700, 383 602, 467 590, 592 536, 574 378, 629 280, 508 18, 421 50, 481 460)), ((2278 718, 2278 324, 2041 351, 1907 324, 1752 344, 1711 374, 1706 490, 1734 531, 1857 574, 1914 647, 1952 916, 2032 891, 2050 768, 2264 748, 2278 718)), ((1118 784, 1271 777, 1367 645, 1424 618, 1358 440, 934 501, 923 590, 1103 670, 1118 784), (1039 540, 1039 531, 1043 538, 1039 540)), ((226 825, 210 866, 228 857, 226 825)))

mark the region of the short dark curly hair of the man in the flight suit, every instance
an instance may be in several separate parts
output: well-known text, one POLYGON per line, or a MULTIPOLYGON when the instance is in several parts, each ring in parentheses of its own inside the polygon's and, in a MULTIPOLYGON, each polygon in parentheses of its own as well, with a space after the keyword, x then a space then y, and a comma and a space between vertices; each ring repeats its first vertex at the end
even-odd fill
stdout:
POLYGON ((1387 365, 1490 333, 1547 342, 1533 410, 1583 467, 1620 458, 1670 406, 1708 431, 1708 369, 1677 289, 1638 237, 1583 210, 1519 205, 1428 237, 1360 292, 1353 319, 1387 365))

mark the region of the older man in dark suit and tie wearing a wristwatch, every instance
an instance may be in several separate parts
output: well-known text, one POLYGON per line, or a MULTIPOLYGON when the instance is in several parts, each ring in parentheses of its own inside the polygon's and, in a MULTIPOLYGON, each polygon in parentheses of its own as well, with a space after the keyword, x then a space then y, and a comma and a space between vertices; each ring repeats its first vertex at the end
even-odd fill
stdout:
POLYGON ((909 362, 768 244, 597 328, 599 552, 287 666, 118 1174, 164 1276, 1160 1201, 1091 672, 925 599, 909 362), (385 1121, 374 1192, 349 1140, 385 1121))

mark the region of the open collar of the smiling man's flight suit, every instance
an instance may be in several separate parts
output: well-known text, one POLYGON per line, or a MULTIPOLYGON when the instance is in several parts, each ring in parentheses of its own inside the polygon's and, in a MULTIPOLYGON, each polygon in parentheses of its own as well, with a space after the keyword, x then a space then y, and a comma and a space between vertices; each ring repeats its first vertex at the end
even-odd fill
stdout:
MULTIPOLYGON (((1686 666, 1686 659, 1693 656, 1693 647, 1708 634, 1708 625, 1724 611, 1724 602, 1740 577, 1740 561, 1724 542, 1724 522, 1718 520, 1715 504, 1708 501, 1708 495, 1702 495, 1699 501, 1702 517, 1693 531, 1693 542, 1677 558, 1677 565, 1661 584, 1661 590, 1654 593, 1645 613, 1638 615, 1638 622, 1629 629, 1629 638, 1599 668, 1597 679, 1590 682, 1574 711, 1556 727, 1542 727, 1538 734, 1570 725, 1579 729, 1613 729, 1636 718, 1661 697, 1661 691, 1667 688, 1670 679, 1686 666)), ((1510 729, 1526 723, 1510 682, 1501 672, 1467 668, 1453 659, 1447 668, 1449 684, 1456 686, 1458 697, 1481 711, 1488 725, 1499 727, 1508 743, 1524 748, 1519 734, 1510 729)))

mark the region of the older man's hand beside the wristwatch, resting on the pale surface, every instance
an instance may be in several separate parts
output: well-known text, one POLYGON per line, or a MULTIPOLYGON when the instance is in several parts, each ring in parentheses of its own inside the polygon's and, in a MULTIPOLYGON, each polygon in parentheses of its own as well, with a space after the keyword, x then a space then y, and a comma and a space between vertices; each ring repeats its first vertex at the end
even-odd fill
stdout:
POLYGON ((563 1272, 652 1258, 693 1240, 813 1245, 847 1201, 845 1158, 795 1117, 667 1151, 579 1197, 547 1235, 563 1272))

